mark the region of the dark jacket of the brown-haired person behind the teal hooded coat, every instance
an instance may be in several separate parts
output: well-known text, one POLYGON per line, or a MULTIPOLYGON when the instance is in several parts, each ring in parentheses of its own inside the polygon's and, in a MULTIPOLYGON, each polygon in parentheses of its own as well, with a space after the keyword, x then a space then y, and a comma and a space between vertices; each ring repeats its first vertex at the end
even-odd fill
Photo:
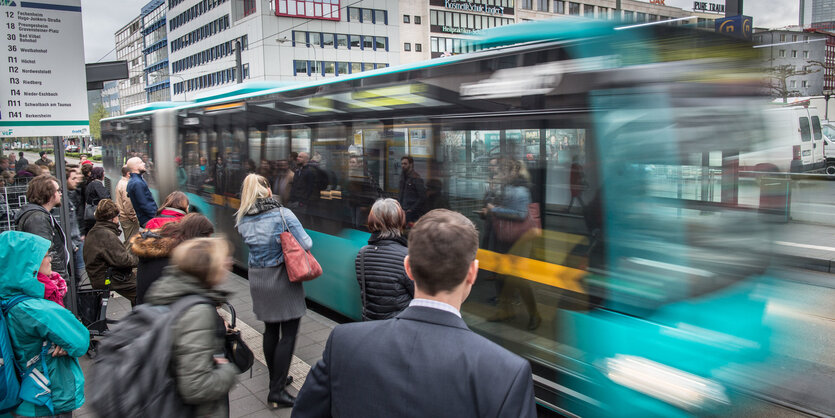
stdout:
POLYGON ((68 278, 67 263, 70 253, 64 239, 64 230, 61 229, 58 221, 43 206, 27 203, 15 215, 15 224, 18 231, 35 234, 52 243, 49 247, 49 254, 52 256, 52 271, 65 279, 68 278))

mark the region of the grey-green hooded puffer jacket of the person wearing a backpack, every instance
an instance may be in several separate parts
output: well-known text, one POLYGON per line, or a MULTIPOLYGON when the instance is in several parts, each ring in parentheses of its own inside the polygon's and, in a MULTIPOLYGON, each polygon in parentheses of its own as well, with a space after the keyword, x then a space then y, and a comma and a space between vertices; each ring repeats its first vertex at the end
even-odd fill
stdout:
MULTIPOLYGON (((197 278, 169 266, 151 285, 145 302, 170 305, 191 294, 206 296, 216 304, 226 300, 224 292, 207 289, 197 278)), ((174 378, 183 401, 196 405, 195 416, 228 417, 229 391, 235 385, 238 368, 231 363, 214 363, 213 356, 224 352, 225 334, 215 308, 208 304, 190 308, 174 323, 172 334, 174 378)))

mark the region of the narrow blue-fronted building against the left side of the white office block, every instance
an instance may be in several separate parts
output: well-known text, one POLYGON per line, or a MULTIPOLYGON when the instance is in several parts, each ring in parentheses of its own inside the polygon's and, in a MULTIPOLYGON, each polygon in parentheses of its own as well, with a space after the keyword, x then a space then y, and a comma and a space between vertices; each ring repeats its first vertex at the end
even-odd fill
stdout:
POLYGON ((145 59, 143 69, 145 93, 148 102, 171 99, 168 79, 168 27, 166 25, 165 0, 152 0, 142 8, 142 56, 145 59))

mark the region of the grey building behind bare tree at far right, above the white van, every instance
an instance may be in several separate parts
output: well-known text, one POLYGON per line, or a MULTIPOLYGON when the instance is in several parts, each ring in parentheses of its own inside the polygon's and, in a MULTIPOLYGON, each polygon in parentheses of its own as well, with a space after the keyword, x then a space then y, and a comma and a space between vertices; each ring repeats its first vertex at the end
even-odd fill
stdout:
POLYGON ((823 93, 824 79, 832 79, 831 65, 826 64, 829 38, 825 33, 804 32, 799 26, 755 30, 753 40, 763 45, 763 61, 774 97, 823 93))

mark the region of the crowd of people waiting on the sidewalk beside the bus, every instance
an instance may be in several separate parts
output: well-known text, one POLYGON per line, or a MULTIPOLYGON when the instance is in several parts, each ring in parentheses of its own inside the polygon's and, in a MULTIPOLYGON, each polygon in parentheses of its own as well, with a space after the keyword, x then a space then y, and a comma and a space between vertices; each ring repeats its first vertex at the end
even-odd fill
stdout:
MULTIPOLYGON (((237 231, 249 247, 253 311, 265 323, 269 406, 296 405, 293 416, 330 416, 340 407, 345 408, 340 413, 347 416, 397 415, 394 411, 413 406, 410 402, 398 405, 397 400, 413 397, 415 391, 357 374, 363 373, 363 367, 376 368, 373 375, 394 379, 394 364, 427 360, 424 357, 435 356, 433 352, 440 344, 460 355, 468 351, 479 355, 467 360, 471 367, 455 370, 451 364, 436 361, 423 365, 424 372, 412 376, 418 387, 434 386, 439 391, 434 394, 437 399, 444 398, 445 393, 460 393, 450 389, 455 386, 469 395, 457 406, 428 402, 422 407, 427 414, 532 416, 527 362, 477 337, 460 318, 461 303, 478 271, 478 232, 460 214, 443 209, 424 214, 426 187, 410 157, 401 160, 398 199, 377 199, 363 219, 372 235, 357 255, 355 268, 363 320, 377 325, 337 327, 322 361, 300 392, 300 403, 296 402, 286 387, 292 383, 288 373, 300 319, 306 312, 305 294, 302 284, 288 277, 278 236, 289 231, 304 250, 313 246, 294 213, 304 206, 299 193, 309 187, 310 183, 305 182, 314 181, 304 180, 314 175, 304 170, 307 155, 300 153, 298 157, 300 169, 295 173, 288 170, 284 177, 271 181, 259 174, 247 175, 235 215, 237 231), (414 226, 408 239, 404 235, 407 224, 414 226), (370 335, 379 338, 365 337, 370 335), (409 335, 431 337, 412 342, 409 335), (399 348, 391 351, 389 347, 399 348), (412 354, 403 357, 405 353, 412 354), (385 369, 387 365, 392 367, 385 369), (482 379, 477 375, 491 368, 495 371, 490 375, 493 381, 479 383, 482 379), (337 370, 344 370, 340 373, 346 376, 337 370), (453 379, 444 381, 445 374, 453 379), (494 379, 499 376, 503 378, 494 379), (353 383, 333 383, 343 377, 353 383), (356 396, 372 387, 377 387, 379 396, 356 396)), ((71 416, 85 401, 78 357, 85 354, 90 341, 86 328, 63 307, 69 263, 76 272, 83 272, 76 274, 77 281, 89 277, 93 288, 114 291, 132 307, 173 306, 189 295, 200 295, 210 301, 209 305, 225 302, 226 294, 217 287, 231 268, 229 242, 211 238, 212 222, 199 213, 189 213, 191 206, 184 193, 175 191, 157 206, 142 177, 144 171, 142 159, 129 159, 112 198, 103 183, 101 167, 70 166, 65 173, 66 199, 62 199, 64 191, 57 179, 37 173, 27 186, 28 204, 15 217, 17 231, 0 234, 0 245, 6 249, 0 252, 0 299, 18 295, 31 298, 4 312, 11 343, 20 354, 15 356, 16 361, 23 367, 41 346, 50 353, 43 373, 48 377, 51 399, 45 403, 24 399, 15 410, 17 415, 71 416), (63 223, 70 229, 70 243, 65 242, 62 223, 52 214, 64 201, 72 206, 70 219, 63 223)), ((512 190, 506 193, 512 195, 512 190)), ((520 207, 530 202, 529 196, 525 200, 520 195, 516 200, 520 207)), ((512 212, 513 208, 504 210, 512 212)), ((491 203, 485 208, 485 213, 488 211, 499 213, 502 208, 491 203)), ((195 416, 228 416, 228 392, 241 370, 218 355, 224 351, 218 324, 223 324, 221 328, 228 324, 209 305, 188 308, 172 324, 172 373, 176 381, 172 390, 177 391, 180 402, 192 405, 195 416)), ((450 359, 458 357, 455 354, 450 359)))

